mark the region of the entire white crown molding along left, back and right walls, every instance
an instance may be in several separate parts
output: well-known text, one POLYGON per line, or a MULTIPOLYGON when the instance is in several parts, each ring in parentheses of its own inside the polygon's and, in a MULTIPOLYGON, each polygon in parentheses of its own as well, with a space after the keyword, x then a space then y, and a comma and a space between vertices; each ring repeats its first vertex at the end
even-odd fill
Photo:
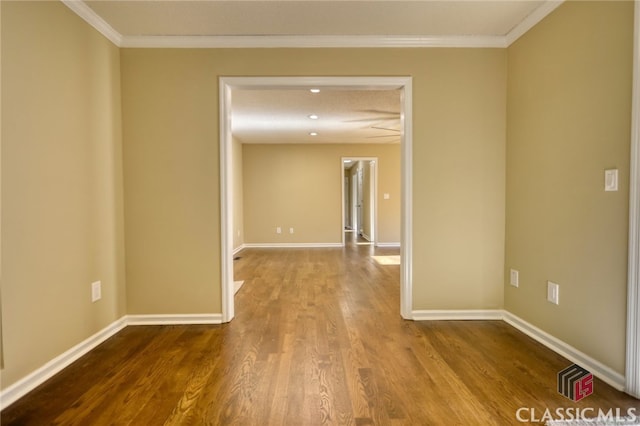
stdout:
POLYGON ((548 0, 506 36, 123 36, 83 0, 60 0, 99 33, 124 48, 506 48, 560 6, 548 0))

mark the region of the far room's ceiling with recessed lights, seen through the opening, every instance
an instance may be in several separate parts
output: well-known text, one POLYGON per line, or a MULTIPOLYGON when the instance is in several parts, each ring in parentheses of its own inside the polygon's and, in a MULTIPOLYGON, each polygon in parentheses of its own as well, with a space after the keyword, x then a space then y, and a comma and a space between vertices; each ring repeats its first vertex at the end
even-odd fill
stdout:
POLYGON ((242 143, 400 143, 399 90, 234 89, 242 143))

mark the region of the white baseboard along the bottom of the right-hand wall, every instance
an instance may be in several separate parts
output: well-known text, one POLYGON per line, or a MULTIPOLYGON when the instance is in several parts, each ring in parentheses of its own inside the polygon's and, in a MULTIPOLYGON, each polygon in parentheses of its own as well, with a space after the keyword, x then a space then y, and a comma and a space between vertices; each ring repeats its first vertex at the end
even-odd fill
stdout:
POLYGON ((613 369, 602 364, 585 353, 579 351, 573 346, 553 337, 549 333, 539 329, 535 325, 528 323, 522 318, 513 315, 511 312, 504 311, 504 321, 512 327, 520 330, 532 339, 542 343, 547 348, 562 355, 569 361, 579 364, 583 368, 589 370, 594 376, 613 386, 615 389, 624 390, 624 376, 615 372, 613 369))

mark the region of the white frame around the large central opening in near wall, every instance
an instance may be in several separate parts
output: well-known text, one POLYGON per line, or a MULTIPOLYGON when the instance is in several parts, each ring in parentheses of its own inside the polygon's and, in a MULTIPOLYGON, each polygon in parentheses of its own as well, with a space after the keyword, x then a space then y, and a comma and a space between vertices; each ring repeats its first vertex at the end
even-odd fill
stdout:
POLYGON ((233 300, 233 175, 231 139, 231 96, 233 89, 312 88, 356 90, 400 89, 402 157, 402 214, 400 315, 411 319, 412 296, 412 78, 411 77, 220 77, 220 274, 222 321, 234 317, 233 300))

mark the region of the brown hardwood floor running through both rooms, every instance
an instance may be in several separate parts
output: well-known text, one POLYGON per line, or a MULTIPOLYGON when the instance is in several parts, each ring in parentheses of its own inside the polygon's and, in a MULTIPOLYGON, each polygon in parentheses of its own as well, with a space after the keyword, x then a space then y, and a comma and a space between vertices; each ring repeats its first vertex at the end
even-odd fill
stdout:
MULTIPOLYGON (((2 412, 3 425, 513 425, 640 401, 501 321, 404 321, 394 249, 247 249, 236 318, 128 327, 2 412)), ((623 411, 624 413, 624 411, 623 411)))

